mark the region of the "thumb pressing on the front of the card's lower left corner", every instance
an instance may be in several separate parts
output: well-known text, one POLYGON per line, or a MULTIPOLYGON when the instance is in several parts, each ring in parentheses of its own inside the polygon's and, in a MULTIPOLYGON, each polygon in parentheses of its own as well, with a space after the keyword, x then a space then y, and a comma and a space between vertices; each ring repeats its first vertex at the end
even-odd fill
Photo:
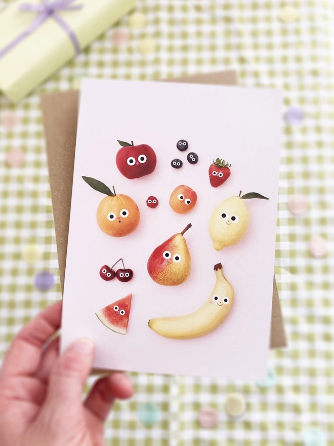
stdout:
POLYGON ((69 402, 81 403, 82 389, 94 360, 94 344, 87 338, 73 342, 60 356, 51 371, 46 405, 64 407, 69 402))

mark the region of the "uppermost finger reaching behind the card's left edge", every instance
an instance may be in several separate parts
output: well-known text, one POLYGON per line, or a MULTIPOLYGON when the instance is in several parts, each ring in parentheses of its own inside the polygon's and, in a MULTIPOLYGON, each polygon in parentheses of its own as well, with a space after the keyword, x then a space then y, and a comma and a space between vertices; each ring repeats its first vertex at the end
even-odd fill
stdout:
POLYGON ((10 347, 1 372, 2 378, 34 375, 43 344, 60 326, 62 301, 39 313, 19 331, 10 347))

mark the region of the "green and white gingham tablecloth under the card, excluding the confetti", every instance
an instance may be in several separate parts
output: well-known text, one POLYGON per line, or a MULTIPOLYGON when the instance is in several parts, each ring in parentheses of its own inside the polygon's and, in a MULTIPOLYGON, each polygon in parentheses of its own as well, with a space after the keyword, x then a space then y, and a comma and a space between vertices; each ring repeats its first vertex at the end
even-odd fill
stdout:
MULTIPOLYGON (((13 131, 0 125, 1 357, 23 324, 61 298, 40 93, 68 90, 82 73, 149 80, 233 68, 243 85, 283 88, 285 110, 298 106, 305 114, 300 126, 282 119, 275 273, 289 347, 270 354, 276 385, 266 390, 253 382, 133 373, 136 395, 115 404, 107 444, 298 446, 303 431, 314 425, 326 433, 326 444, 334 445, 334 3, 286 0, 300 12, 293 23, 279 21, 283 5, 278 0, 139 0, 138 11, 148 24, 131 31, 128 46, 114 47, 109 31, 16 107, 0 99, 0 114, 14 110, 20 120, 13 131), (138 51, 145 36, 157 43, 153 55, 138 51), (6 165, 13 147, 26 153, 25 167, 6 165), (309 198, 304 217, 287 210, 295 193, 309 198), (314 235, 328 241, 330 253, 323 259, 307 252, 314 235), (30 242, 43 250, 32 267, 21 259, 30 242), (42 270, 56 276, 48 292, 34 287, 42 270), (224 412, 231 391, 246 399, 243 420, 231 421, 224 412), (160 421, 150 428, 138 418, 144 402, 160 410, 160 421), (207 405, 220 413, 215 429, 197 423, 198 411, 207 405)), ((118 26, 126 24, 124 18, 118 26)))

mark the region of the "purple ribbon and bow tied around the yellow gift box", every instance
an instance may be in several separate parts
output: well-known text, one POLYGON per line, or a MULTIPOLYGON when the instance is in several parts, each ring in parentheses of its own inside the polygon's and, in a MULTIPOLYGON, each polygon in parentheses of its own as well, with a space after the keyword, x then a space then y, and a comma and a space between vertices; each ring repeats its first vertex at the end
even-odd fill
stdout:
POLYGON ((73 5, 74 2, 76 2, 76 0, 55 0, 54 2, 50 3, 48 0, 41 0, 40 4, 24 3, 21 5, 21 11, 36 12, 38 15, 26 30, 19 34, 5 48, 0 50, 0 59, 14 47, 16 47, 16 45, 22 42, 28 35, 38 29, 39 26, 50 17, 56 20, 56 22, 63 28, 63 30, 69 36, 76 54, 79 54, 81 51, 80 43, 74 34, 74 31, 69 27, 65 20, 59 14, 57 14, 58 11, 78 11, 82 8, 83 5, 73 5))

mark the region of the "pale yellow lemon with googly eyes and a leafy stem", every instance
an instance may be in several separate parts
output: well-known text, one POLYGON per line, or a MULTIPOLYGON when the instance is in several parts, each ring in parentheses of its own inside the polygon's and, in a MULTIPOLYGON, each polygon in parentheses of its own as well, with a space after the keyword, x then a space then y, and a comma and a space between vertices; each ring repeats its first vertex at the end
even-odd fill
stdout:
POLYGON ((223 200, 213 211, 209 221, 209 233, 216 251, 238 243, 246 234, 249 226, 249 211, 244 200, 249 198, 269 198, 250 192, 223 200))

